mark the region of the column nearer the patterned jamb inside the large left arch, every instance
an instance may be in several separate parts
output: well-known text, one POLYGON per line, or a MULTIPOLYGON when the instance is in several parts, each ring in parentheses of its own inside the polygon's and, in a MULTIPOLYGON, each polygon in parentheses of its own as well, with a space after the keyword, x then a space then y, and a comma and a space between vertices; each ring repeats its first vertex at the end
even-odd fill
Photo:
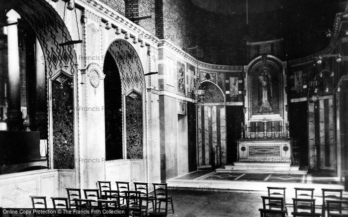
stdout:
POLYGON ((35 125, 36 130, 40 131, 40 139, 47 139, 47 91, 46 91, 46 73, 44 53, 41 49, 39 41, 35 42, 35 81, 36 81, 36 97, 35 97, 35 125))

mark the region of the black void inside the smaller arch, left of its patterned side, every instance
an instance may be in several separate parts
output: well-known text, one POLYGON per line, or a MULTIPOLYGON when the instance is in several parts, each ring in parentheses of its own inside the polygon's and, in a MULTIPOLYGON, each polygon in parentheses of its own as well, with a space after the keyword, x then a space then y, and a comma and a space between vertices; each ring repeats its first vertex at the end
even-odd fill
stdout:
POLYGON ((109 52, 104 60, 105 158, 123 158, 121 79, 115 60, 109 52))

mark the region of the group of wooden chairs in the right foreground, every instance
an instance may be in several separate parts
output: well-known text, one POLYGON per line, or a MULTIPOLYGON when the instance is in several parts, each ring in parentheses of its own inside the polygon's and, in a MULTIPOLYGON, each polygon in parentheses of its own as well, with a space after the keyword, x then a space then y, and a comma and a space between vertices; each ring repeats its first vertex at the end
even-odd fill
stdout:
POLYGON ((348 211, 348 201, 343 200, 342 189, 322 189, 323 203, 316 205, 314 188, 295 188, 295 198, 292 204, 285 203, 284 187, 267 187, 268 196, 262 196, 261 217, 285 217, 288 215, 287 206, 293 206, 293 217, 348 217, 343 212, 348 211), (315 213, 316 208, 322 209, 321 213, 315 213), (333 213, 336 212, 336 213, 333 213))

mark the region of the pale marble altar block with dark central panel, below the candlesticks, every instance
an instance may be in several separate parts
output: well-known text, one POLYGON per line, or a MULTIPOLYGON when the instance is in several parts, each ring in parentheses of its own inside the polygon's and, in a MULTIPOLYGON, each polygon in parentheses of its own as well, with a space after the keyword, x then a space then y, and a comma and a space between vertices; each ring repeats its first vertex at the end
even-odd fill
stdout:
POLYGON ((291 163, 291 140, 238 141, 239 162, 291 163))

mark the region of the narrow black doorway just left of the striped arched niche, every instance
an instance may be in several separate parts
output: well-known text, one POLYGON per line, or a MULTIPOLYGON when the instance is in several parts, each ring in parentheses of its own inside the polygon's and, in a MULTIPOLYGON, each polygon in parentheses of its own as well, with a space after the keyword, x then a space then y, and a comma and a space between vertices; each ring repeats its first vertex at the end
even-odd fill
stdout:
POLYGON ((197 170, 196 149, 196 106, 187 102, 187 129, 188 129, 188 171, 197 170))

